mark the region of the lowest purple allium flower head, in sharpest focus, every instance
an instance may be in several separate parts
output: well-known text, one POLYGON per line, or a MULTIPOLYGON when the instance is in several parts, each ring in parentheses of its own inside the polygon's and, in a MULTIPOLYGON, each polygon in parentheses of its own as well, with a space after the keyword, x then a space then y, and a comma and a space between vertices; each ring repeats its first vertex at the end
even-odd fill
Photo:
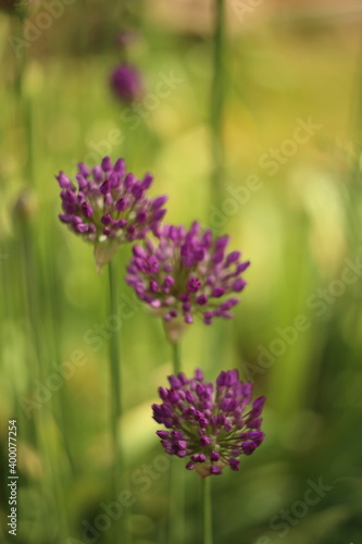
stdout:
POLYGON ((152 405, 153 419, 167 431, 157 431, 164 450, 189 458, 188 470, 201 478, 221 474, 228 465, 239 470, 240 455, 251 455, 264 440, 260 430, 265 397, 250 406, 252 385, 237 370, 223 371, 216 383, 204 382, 200 369, 188 380, 168 376, 170 390, 159 388, 161 405, 152 405))

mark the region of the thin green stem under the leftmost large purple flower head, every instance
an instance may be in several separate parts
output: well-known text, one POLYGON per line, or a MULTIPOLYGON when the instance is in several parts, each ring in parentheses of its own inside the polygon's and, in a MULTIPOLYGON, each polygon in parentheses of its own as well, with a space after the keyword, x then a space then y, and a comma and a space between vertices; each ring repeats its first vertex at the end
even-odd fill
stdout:
MULTIPOLYGON (((108 264, 109 272, 109 288, 110 288, 110 312, 112 316, 117 311, 117 274, 114 261, 108 264)), ((113 442, 113 471, 112 485, 113 496, 115 499, 120 496, 122 489, 121 475, 123 471, 122 446, 120 435, 120 423, 122 416, 122 395, 121 395, 121 354, 120 354, 120 337, 112 334, 110 338, 110 382, 111 382, 111 425, 112 425, 112 442, 113 442)), ((122 519, 122 518, 121 518, 122 519)), ((114 544, 121 544, 122 530, 118 520, 114 522, 114 544)), ((126 536, 126 535, 125 535, 126 536)))

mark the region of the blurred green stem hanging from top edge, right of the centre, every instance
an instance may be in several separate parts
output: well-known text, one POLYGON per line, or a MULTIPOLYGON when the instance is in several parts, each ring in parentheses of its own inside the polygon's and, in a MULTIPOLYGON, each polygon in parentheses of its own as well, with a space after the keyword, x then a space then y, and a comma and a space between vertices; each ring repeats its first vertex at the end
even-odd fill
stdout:
POLYGON ((222 141, 224 77, 225 10, 224 0, 215 0, 215 34, 213 53, 213 82, 211 89, 211 152, 214 161, 212 175, 213 201, 220 205, 223 197, 224 150, 222 141))

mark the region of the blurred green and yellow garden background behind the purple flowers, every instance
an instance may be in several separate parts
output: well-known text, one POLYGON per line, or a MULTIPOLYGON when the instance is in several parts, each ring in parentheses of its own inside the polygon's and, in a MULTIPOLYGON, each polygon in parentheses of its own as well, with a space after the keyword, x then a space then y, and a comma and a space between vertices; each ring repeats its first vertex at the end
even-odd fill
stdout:
MULTIPOLYGON (((111 529, 97 530, 101 505, 113 500, 107 273, 59 223, 54 180, 104 154, 125 157, 138 176, 154 174, 153 194, 170 195, 167 222, 200 219, 252 261, 235 319, 195 323, 182 345, 187 373, 201 367, 211 380, 238 368, 267 397, 262 447, 240 472, 213 478, 215 544, 362 542, 360 5, 226 3, 217 197, 212 2, 59 0, 53 12, 43 2, 25 21, 24 47, 9 40, 21 36, 18 22, 1 12, 2 542, 12 539, 14 418, 16 542, 112 542, 111 529), (127 59, 145 84, 132 106, 109 88, 124 55, 116 36, 127 27, 136 35, 127 59), (165 97, 160 81, 168 82, 165 97), (87 523, 96 529, 86 539, 87 523)), ((134 544, 162 544, 168 463, 150 405, 172 372, 171 350, 159 320, 123 283, 129 251, 116 256, 128 521, 134 544)), ((197 544, 201 482, 187 471, 185 480, 185 542, 197 544)))

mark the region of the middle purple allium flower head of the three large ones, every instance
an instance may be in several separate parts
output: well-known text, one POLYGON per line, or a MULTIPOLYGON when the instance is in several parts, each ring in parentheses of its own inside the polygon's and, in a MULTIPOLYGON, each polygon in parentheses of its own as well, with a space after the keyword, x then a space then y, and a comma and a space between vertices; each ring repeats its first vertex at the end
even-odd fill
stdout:
MULTIPOLYGON (((154 200, 155 212, 163 203, 163 197, 154 200)), ((134 246, 126 282, 165 320, 166 330, 192 323, 195 316, 205 324, 233 318, 230 309, 239 301, 235 295, 247 284, 241 274, 250 262, 241 261, 238 251, 226 252, 228 236, 213 238, 198 222, 189 231, 160 226, 155 234, 155 244, 134 246)))

